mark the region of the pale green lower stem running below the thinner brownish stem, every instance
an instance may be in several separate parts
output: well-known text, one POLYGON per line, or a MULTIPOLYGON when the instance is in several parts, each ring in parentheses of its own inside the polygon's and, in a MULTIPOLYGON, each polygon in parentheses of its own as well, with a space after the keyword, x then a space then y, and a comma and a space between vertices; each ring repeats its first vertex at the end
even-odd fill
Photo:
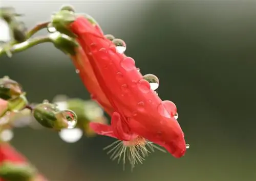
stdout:
MULTIPOLYGON (((40 43, 45 43, 45 42, 52 42, 52 39, 49 36, 41 36, 41 37, 31 38, 25 42, 13 45, 9 49, 9 51, 11 53, 17 53, 19 51, 24 51, 32 46, 38 45, 40 43)), ((8 51, 8 49, 0 48, 0 56, 7 54, 7 51, 8 51)))

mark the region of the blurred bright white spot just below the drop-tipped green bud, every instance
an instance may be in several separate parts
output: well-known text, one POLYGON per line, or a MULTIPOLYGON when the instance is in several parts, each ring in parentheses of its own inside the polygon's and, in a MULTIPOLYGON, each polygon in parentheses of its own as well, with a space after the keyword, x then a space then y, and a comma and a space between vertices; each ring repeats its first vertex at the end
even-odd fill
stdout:
POLYGON ((82 138, 83 132, 80 128, 62 129, 59 137, 67 143, 75 143, 82 138))

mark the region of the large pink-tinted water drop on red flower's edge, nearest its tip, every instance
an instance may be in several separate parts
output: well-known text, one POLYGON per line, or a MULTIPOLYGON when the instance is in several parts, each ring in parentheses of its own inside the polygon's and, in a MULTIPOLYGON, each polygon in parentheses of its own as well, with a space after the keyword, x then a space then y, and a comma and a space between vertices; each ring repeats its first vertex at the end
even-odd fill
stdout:
POLYGON ((171 118, 177 113, 177 108, 172 101, 164 100, 158 106, 158 112, 164 117, 171 118))

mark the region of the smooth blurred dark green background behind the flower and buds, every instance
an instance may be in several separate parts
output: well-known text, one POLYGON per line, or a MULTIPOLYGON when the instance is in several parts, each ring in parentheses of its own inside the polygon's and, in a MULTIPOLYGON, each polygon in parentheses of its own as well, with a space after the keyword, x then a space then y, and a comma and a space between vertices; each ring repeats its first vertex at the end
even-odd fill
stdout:
MULTIPOLYGON (((52 181, 256 180, 255 1, 12 1, 33 24, 63 4, 92 15, 105 34, 127 44, 143 74, 159 77, 159 96, 178 107, 190 144, 175 159, 155 152, 131 173, 102 148, 114 139, 63 142, 57 133, 20 128, 13 145, 52 181)), ((44 32, 46 33, 46 32, 44 32)), ((0 76, 20 82, 32 102, 57 94, 88 99, 70 59, 42 44, 0 58, 0 76)))

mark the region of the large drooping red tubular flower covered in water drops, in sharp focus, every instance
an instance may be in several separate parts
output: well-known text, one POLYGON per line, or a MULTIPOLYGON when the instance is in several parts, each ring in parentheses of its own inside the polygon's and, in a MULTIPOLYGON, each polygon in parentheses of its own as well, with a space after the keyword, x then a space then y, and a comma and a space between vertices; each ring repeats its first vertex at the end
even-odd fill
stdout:
MULTIPOLYGON (((111 125, 91 123, 96 133, 123 141, 124 146, 119 153, 114 151, 113 159, 125 153, 125 146, 129 146, 130 153, 135 154, 135 157, 139 157, 137 153, 141 151, 142 157, 137 158, 137 161, 141 161, 147 153, 143 151, 145 146, 152 145, 152 142, 166 148, 174 157, 182 157, 186 144, 181 127, 174 118, 177 113, 175 104, 168 100, 162 101, 151 90, 150 84, 143 80, 135 61, 117 53, 115 45, 86 18, 78 17, 71 24, 71 31, 77 35, 87 55, 90 68, 101 88, 99 90, 103 92, 100 95, 104 94, 108 98, 115 111, 111 125)), ((91 85, 86 87, 90 89, 91 85)), ((135 164, 131 157, 129 159, 135 164)))

